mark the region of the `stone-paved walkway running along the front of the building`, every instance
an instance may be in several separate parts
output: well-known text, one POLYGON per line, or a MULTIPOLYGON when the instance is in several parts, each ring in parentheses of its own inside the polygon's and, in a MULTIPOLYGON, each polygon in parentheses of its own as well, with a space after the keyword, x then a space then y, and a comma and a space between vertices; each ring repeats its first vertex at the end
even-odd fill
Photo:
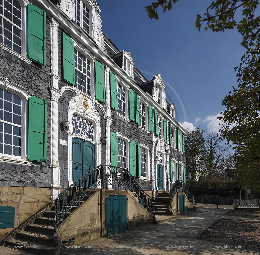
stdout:
MULTIPOLYGON (((173 220, 159 225, 151 224, 141 226, 124 233, 97 238, 88 242, 78 244, 77 247, 70 246, 64 249, 62 255, 253 255, 260 254, 260 250, 242 247, 235 249, 232 244, 210 242, 206 240, 193 239, 204 229, 216 222, 228 210, 216 208, 197 208, 184 215, 176 216, 173 220), (81 246, 81 247, 79 247, 81 246), (222 246, 222 247, 216 247, 222 246)), ((242 217, 241 217, 242 218, 242 217)), ((24 255, 17 251, 2 250, 3 255, 24 255), (16 253, 15 253, 16 252, 16 253)))

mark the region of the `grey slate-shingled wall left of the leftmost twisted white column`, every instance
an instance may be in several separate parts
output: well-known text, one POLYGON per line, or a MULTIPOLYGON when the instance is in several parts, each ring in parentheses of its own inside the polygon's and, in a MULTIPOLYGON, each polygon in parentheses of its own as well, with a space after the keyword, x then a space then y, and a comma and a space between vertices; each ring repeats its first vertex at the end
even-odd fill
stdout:
MULTIPOLYGON (((50 186, 50 18, 46 17, 46 66, 28 64, 0 49, 0 77, 23 86, 35 97, 47 100, 47 162, 31 166, 0 162, 0 186, 50 186)), ((27 130, 25 130, 27 132, 27 130)))

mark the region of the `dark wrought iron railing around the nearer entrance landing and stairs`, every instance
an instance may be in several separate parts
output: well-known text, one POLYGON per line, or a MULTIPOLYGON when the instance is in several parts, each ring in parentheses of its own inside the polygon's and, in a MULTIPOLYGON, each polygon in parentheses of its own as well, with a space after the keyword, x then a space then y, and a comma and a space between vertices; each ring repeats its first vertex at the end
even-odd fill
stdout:
POLYGON ((135 181, 128 169, 99 165, 79 180, 71 184, 55 199, 55 233, 61 219, 73 206, 80 206, 80 201, 93 189, 107 188, 108 185, 116 185, 117 189, 130 190, 138 202, 151 213, 156 211, 153 198, 135 181))

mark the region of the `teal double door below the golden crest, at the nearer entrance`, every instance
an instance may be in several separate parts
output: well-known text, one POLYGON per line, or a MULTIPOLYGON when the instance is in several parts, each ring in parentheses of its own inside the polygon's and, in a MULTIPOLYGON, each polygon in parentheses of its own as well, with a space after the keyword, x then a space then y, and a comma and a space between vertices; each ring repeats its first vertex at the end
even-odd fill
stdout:
POLYGON ((94 168, 95 168, 95 145, 84 139, 73 137, 72 138, 73 182, 79 180, 82 176, 86 175, 94 168))

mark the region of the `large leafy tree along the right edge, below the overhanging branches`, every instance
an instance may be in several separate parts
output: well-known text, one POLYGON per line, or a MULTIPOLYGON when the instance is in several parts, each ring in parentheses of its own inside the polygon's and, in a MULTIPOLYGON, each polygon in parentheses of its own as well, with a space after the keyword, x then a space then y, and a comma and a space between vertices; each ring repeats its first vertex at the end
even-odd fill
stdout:
POLYGON ((238 86, 223 100, 218 118, 222 138, 233 144, 242 183, 260 191, 260 42, 248 49, 236 67, 238 86))

